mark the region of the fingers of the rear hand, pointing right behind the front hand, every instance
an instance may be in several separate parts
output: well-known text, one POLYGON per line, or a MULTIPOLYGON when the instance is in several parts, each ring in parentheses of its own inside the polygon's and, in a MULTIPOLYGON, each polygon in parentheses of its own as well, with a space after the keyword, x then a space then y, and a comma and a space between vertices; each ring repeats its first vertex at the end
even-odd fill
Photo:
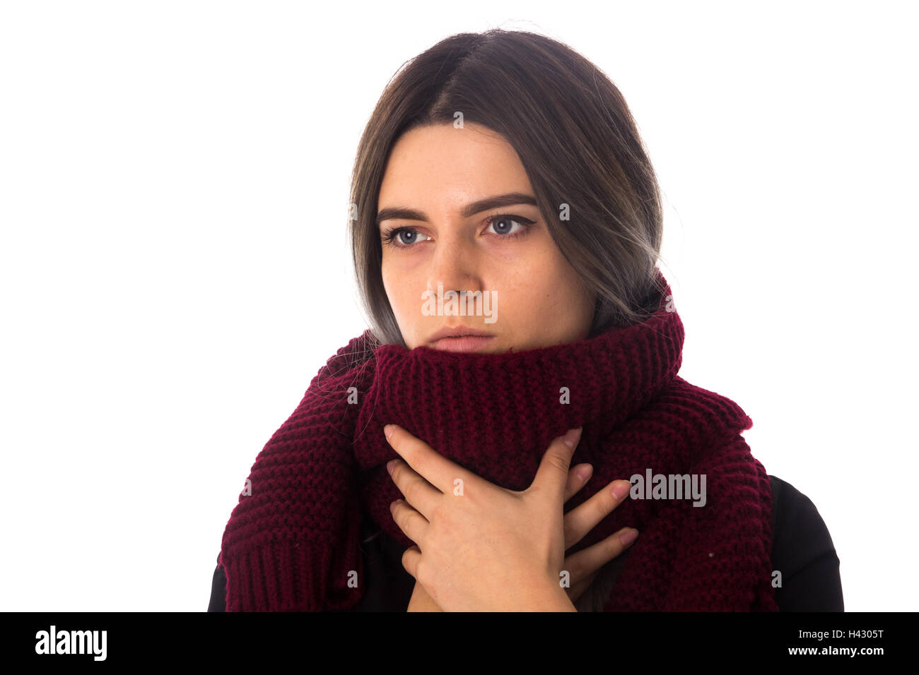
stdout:
MULTIPOLYGON (((568 482, 565 484, 564 501, 570 500, 573 495, 584 488, 592 473, 593 467, 589 464, 572 467, 568 472, 568 482), (582 473, 585 478, 581 478, 582 473)), ((565 550, 567 551, 581 541, 585 534, 596 527, 597 523, 613 512, 629 494, 630 488, 631 483, 628 480, 614 480, 583 504, 565 513, 563 519, 565 550), (618 495, 614 494, 614 489, 618 495)), ((623 527, 593 546, 588 546, 571 556, 565 556, 562 569, 569 573, 569 587, 565 589, 568 599, 576 602, 593 583, 599 569, 631 546, 637 536, 638 530, 634 527, 623 527), (631 536, 631 533, 634 535, 631 536), (630 539, 629 536, 631 536, 630 539)))

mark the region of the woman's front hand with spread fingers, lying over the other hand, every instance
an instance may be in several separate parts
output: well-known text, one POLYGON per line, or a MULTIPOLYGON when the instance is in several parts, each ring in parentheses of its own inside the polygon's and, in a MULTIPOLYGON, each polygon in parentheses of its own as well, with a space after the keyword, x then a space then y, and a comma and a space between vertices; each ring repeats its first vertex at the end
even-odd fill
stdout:
POLYGON ((528 489, 501 488, 441 456, 395 424, 402 457, 392 480, 405 496, 392 518, 412 539, 403 567, 446 612, 574 611, 560 583, 563 500, 571 445, 555 439, 528 489), (407 503, 406 503, 407 502, 407 503))

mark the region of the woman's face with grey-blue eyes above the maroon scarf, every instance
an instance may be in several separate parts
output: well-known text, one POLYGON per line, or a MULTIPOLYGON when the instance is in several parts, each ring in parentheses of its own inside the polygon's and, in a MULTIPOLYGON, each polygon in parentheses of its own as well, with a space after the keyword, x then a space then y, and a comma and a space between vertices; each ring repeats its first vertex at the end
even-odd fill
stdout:
POLYGON ((392 148, 379 208, 383 286, 409 349, 497 354, 587 336, 594 296, 552 240, 504 137, 468 123, 409 131, 392 148), (432 342, 457 326, 491 337, 432 342))

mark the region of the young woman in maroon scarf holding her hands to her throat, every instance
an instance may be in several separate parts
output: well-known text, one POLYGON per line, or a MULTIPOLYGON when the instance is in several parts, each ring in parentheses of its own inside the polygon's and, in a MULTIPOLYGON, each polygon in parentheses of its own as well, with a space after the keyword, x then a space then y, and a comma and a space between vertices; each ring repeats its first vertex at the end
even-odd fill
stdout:
POLYGON ((351 201, 372 328, 256 457, 210 611, 843 609, 819 513, 677 375, 659 187, 596 66, 442 40, 380 97, 351 201))

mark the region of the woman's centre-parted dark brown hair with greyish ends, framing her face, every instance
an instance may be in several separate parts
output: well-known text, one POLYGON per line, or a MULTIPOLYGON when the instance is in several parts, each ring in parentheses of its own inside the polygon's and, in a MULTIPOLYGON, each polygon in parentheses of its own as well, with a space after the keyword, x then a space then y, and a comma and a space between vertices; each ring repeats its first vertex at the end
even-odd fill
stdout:
POLYGON ((494 28, 452 35, 403 64, 361 136, 349 232, 377 340, 405 346, 382 283, 376 224, 391 148, 410 129, 453 124, 457 112, 502 134, 519 155, 552 239, 596 294, 590 334, 643 321, 663 290, 655 283, 663 208, 625 99, 567 45, 494 28))

